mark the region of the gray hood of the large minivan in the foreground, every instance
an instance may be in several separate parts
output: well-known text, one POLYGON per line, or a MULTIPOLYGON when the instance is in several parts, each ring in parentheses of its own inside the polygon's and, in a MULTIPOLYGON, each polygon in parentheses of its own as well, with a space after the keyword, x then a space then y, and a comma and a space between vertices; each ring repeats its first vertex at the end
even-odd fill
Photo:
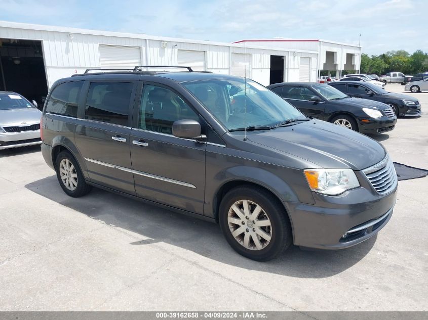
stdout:
POLYGON ((383 147, 368 136, 315 119, 272 130, 250 131, 247 138, 323 168, 362 170, 386 155, 383 147))

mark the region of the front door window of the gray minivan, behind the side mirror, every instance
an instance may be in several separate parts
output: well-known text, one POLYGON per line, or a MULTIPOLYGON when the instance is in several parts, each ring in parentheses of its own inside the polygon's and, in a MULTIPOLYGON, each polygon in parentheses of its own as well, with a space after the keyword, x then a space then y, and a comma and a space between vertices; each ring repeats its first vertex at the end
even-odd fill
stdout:
POLYGON ((138 115, 140 129, 172 134, 172 124, 182 119, 198 121, 198 115, 171 90, 144 85, 138 115))

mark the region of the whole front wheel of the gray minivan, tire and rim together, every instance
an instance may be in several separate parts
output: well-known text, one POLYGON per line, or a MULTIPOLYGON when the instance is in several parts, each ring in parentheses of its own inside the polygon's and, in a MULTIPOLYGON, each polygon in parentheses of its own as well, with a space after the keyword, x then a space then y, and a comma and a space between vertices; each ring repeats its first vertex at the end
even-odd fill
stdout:
POLYGON ((230 190, 219 209, 219 223, 229 245, 256 261, 268 261, 291 244, 291 227, 282 203, 269 192, 242 186, 230 190))

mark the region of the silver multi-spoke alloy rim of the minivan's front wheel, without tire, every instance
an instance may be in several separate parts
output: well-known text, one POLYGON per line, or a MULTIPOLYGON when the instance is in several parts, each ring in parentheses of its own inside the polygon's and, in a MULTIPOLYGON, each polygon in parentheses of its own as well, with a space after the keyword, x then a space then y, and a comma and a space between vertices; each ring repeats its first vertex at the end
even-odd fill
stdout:
POLYGON ((227 214, 229 230, 235 240, 249 250, 261 250, 272 239, 272 225, 263 208, 250 200, 232 204, 227 214))

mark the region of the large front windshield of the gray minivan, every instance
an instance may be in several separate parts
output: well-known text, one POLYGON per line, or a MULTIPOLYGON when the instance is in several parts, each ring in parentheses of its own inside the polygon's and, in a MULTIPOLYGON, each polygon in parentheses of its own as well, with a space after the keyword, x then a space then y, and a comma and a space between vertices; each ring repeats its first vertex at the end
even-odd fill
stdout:
POLYGON ((202 105, 228 130, 272 127, 306 117, 261 84, 250 79, 184 82, 202 105))

